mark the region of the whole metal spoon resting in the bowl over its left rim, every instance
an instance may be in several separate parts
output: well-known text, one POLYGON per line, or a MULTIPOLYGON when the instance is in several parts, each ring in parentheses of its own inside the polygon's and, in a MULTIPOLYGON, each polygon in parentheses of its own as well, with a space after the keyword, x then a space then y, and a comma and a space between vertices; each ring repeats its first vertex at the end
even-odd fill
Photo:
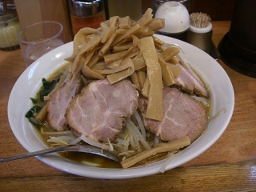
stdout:
POLYGON ((17 160, 20 158, 30 158, 30 157, 34 157, 34 156, 37 156, 40 154, 50 154, 50 153, 66 152, 66 151, 76 151, 76 152, 82 152, 82 153, 87 153, 87 154, 98 154, 98 155, 101 155, 102 157, 112 159, 115 162, 120 162, 120 160, 118 159, 118 156, 116 156, 115 154, 112 154, 108 150, 102 150, 96 146, 82 144, 82 145, 58 146, 58 147, 54 147, 54 148, 50 148, 50 149, 46 149, 46 150, 34 151, 34 152, 31 152, 28 154, 20 154, 20 155, 10 157, 10 158, 0 158, 0 163, 1 162, 10 162, 10 161, 14 161, 14 160, 17 160))

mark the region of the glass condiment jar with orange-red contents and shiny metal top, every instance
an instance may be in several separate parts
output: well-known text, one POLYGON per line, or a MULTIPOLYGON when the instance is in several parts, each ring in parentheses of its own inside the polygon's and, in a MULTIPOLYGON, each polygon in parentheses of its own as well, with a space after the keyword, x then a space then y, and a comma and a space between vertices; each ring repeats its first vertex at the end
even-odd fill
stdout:
POLYGON ((106 21, 103 0, 69 0, 69 7, 74 35, 83 27, 97 29, 106 21))

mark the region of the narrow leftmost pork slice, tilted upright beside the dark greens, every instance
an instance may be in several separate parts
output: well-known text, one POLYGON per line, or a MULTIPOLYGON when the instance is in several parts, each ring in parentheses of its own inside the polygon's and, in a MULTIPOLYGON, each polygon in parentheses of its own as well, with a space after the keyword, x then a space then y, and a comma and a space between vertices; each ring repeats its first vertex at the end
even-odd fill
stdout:
POLYGON ((80 77, 71 86, 70 82, 63 82, 58 90, 50 96, 50 101, 47 104, 47 122, 54 130, 62 131, 66 129, 66 108, 72 98, 81 90, 80 77))

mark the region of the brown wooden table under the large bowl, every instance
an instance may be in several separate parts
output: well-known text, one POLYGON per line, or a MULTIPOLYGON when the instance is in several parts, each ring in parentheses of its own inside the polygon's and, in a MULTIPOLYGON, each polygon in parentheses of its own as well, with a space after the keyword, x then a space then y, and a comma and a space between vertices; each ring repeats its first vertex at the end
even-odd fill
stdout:
MULTIPOLYGON (((212 24, 217 46, 230 22, 212 24)), ((256 190, 256 78, 218 62, 234 86, 234 114, 222 137, 198 158, 164 174, 124 180, 82 178, 28 158, 0 164, 0 191, 256 190)), ((14 138, 7 118, 10 91, 23 70, 21 50, 0 51, 0 157, 26 153, 14 138)))

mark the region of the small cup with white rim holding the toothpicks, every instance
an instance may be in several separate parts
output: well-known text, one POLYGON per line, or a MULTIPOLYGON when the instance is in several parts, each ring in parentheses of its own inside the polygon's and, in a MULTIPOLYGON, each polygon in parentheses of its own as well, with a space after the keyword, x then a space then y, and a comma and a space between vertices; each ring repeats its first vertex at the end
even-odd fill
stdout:
POLYGON ((190 24, 187 41, 209 54, 212 34, 212 24, 210 22, 204 28, 198 28, 190 24))

